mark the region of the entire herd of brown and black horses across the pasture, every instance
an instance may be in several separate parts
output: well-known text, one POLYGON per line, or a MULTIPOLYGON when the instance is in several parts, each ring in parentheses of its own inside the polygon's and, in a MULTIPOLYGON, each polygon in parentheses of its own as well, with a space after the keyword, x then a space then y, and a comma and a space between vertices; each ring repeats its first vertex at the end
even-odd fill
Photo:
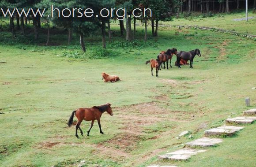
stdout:
MULTIPOLYGON (((153 68, 156 69, 156 77, 158 77, 158 71, 162 69, 165 69, 167 67, 168 69, 168 62, 170 60, 170 67, 172 67, 172 57, 173 55, 177 56, 177 67, 181 68, 181 65, 185 65, 187 64, 187 61, 189 60, 189 67, 193 68, 193 59, 195 58, 196 55, 201 56, 200 50, 199 49, 195 49, 189 52, 184 52, 184 51, 180 51, 177 52, 176 48, 172 48, 172 49, 168 49, 166 52, 162 51, 160 52, 160 54, 157 56, 157 59, 151 59, 148 60, 146 62, 147 63, 151 63, 151 74, 153 75, 153 68), (166 65, 165 65, 166 63, 166 65), (162 64, 164 64, 164 67, 162 67, 162 64)), ((104 79, 104 82, 117 82, 120 81, 120 78, 117 75, 109 75, 106 74, 105 72, 102 72, 102 79, 104 79)), ((113 115, 112 112, 112 108, 111 108, 111 104, 107 103, 101 106, 94 106, 92 108, 79 108, 75 111, 72 112, 69 121, 68 121, 68 126, 71 127, 73 124, 73 119, 74 119, 74 115, 77 118, 78 122, 76 123, 75 126, 75 136, 77 138, 79 138, 77 131, 78 129, 80 130, 81 135, 83 136, 83 131, 80 128, 80 124, 83 120, 85 121, 91 121, 91 125, 90 125, 90 129, 87 131, 87 135, 89 136, 90 134, 90 130, 94 124, 94 121, 97 120, 98 122, 98 126, 100 129, 100 133, 104 134, 102 132, 102 128, 101 128, 101 116, 102 114, 107 111, 107 113, 109 113, 109 115, 113 115)))

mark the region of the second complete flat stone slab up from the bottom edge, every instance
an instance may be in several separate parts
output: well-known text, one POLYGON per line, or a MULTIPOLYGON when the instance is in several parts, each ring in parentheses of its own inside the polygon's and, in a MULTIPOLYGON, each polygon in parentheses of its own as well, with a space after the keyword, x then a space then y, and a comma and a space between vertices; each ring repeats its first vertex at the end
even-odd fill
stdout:
POLYGON ((223 140, 222 139, 218 139, 218 138, 208 138, 208 137, 203 137, 194 141, 190 141, 188 143, 186 143, 186 145, 188 146, 200 146, 200 147, 211 147, 211 146, 215 146, 218 143, 221 143, 223 140))

